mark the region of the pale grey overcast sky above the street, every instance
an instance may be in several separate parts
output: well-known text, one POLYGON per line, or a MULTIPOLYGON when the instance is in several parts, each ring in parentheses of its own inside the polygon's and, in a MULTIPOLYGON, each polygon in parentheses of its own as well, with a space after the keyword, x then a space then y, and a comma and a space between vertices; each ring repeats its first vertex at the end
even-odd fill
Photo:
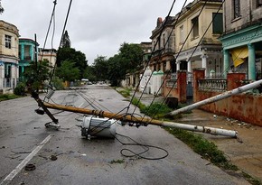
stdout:
MULTIPOLYGON (((21 38, 43 47, 51 19, 53 0, 2 0, 1 20, 13 23, 21 38)), ((177 14, 184 0, 177 0, 171 15, 177 14)), ((192 2, 189 0, 188 2, 192 2)), ((173 0, 73 0, 66 30, 71 47, 85 53, 89 65, 98 55, 112 57, 123 42, 150 42, 157 17, 165 17, 173 0)), ((53 47, 58 48, 70 0, 57 0, 53 47)), ((51 32, 45 48, 51 48, 51 32)))

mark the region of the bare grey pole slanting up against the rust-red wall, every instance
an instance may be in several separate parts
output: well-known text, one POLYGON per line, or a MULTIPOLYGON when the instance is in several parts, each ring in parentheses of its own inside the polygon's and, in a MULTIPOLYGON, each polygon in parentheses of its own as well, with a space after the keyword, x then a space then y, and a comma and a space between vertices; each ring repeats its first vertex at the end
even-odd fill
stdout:
POLYGON ((216 102, 216 101, 219 101, 221 99, 225 99, 227 97, 231 97, 233 95, 237 95, 237 94, 240 94, 242 92, 245 92, 245 91, 248 91, 252 88, 257 88, 259 86, 262 85, 262 79, 260 80, 257 80, 255 82, 252 82, 248 85, 245 85, 245 86, 242 86, 242 87, 239 87, 239 88, 234 88, 232 90, 229 90, 229 91, 226 91, 224 93, 221 93, 220 95, 218 96, 215 96, 215 97, 210 97, 210 98, 207 98, 207 99, 204 99, 202 101, 199 101, 197 103, 194 103, 190 106, 184 106, 180 109, 177 109, 177 110, 174 110, 172 112, 170 112, 168 115, 169 116, 175 116, 175 115, 178 115, 178 114, 181 114, 183 112, 187 112, 187 111, 190 111, 192 109, 195 109, 195 108, 198 108, 200 106, 204 106, 204 105, 207 105, 207 104, 211 104, 213 102, 216 102))

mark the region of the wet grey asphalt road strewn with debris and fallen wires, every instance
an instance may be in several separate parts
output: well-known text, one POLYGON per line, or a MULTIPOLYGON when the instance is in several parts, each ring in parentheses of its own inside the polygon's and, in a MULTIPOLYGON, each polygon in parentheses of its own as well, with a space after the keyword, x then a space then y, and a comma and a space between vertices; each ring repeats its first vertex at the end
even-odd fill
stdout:
MULTIPOLYGON (((51 102, 126 113, 129 102, 114 89, 87 88, 56 91, 51 102)), ((76 126, 82 115, 51 110, 61 125, 56 131, 45 128, 51 120, 35 114, 36 108, 32 97, 0 102, 0 184, 248 184, 201 159, 158 126, 117 125, 117 139, 88 140, 76 126), (123 144, 134 141, 139 144, 123 144), (147 148, 141 144, 153 146, 142 156, 154 160, 121 154, 126 148, 126 155, 142 153, 147 148), (168 156, 158 159, 167 154, 164 150, 168 156), (26 171, 28 164, 35 169, 26 171)))

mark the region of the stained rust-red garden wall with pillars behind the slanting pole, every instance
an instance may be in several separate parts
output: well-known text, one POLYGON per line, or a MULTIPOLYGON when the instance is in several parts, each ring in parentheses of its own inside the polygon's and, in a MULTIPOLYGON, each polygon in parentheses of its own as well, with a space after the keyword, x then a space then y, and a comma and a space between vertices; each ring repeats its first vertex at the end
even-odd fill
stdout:
MULTIPOLYGON (((203 69, 193 70, 194 76, 194 97, 193 101, 198 102, 203 99, 219 95, 219 92, 200 91, 198 89, 198 79, 204 79, 203 69)), ((228 90, 241 86, 241 80, 245 79, 243 73, 228 74, 228 90)), ((229 116, 239 121, 247 122, 254 125, 262 126, 262 94, 252 95, 250 93, 241 93, 229 98, 225 98, 206 106, 201 109, 212 112, 214 114, 229 116)))

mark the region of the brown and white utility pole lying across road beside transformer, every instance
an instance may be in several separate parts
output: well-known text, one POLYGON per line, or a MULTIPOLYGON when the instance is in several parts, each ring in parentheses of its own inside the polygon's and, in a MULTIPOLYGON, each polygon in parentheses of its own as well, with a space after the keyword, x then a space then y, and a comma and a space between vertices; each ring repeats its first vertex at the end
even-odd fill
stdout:
POLYGON ((123 116, 123 115, 117 115, 114 113, 101 111, 101 110, 91 110, 87 108, 72 107, 72 106, 61 106, 61 105, 55 105, 55 104, 50 104, 50 103, 43 103, 43 106, 47 108, 64 110, 64 111, 69 111, 69 112, 74 112, 74 113, 93 115, 93 116, 99 116, 99 117, 108 117, 109 119, 117 119, 124 123, 129 122, 129 123, 138 123, 141 125, 159 125, 159 126, 164 126, 164 127, 181 128, 181 129, 189 130, 189 131, 201 132, 201 133, 206 133, 206 134, 224 135, 224 136, 229 136, 229 137, 238 136, 237 131, 220 129, 220 128, 212 128, 208 126, 185 125, 185 124, 155 120, 155 119, 146 118, 146 117, 145 118, 135 117, 135 116, 130 116, 130 115, 123 116))

